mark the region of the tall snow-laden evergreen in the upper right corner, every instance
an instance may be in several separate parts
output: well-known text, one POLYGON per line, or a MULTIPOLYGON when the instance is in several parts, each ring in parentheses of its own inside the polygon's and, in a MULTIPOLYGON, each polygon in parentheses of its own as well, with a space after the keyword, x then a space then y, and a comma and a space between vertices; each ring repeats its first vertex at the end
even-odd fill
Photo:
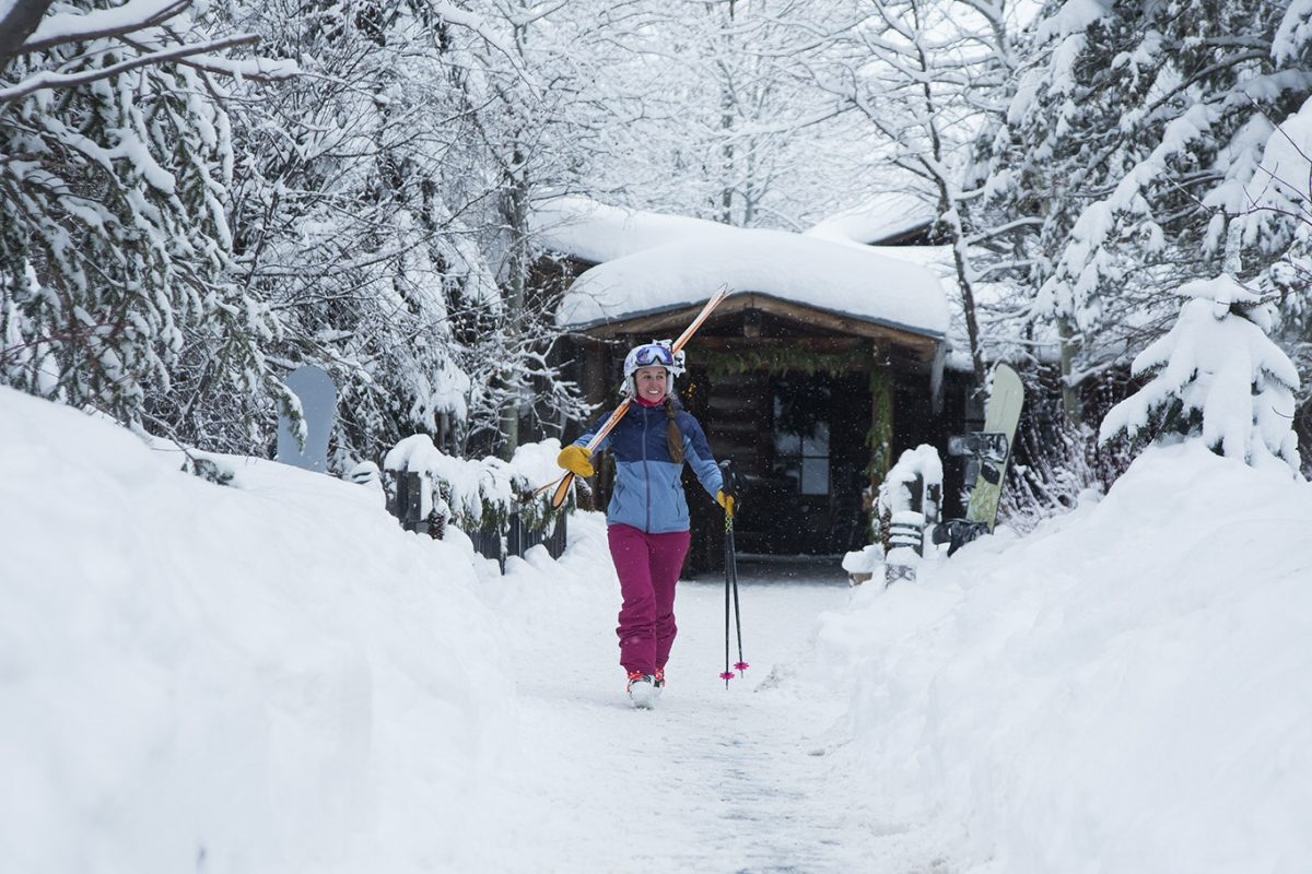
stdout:
POLYGON ((1169 324, 1164 292, 1220 273, 1270 119, 1312 93, 1307 12, 1304 0, 1043 4, 993 176, 1004 208, 1042 221, 1025 316, 1060 339, 1072 418, 1084 376, 1169 324))

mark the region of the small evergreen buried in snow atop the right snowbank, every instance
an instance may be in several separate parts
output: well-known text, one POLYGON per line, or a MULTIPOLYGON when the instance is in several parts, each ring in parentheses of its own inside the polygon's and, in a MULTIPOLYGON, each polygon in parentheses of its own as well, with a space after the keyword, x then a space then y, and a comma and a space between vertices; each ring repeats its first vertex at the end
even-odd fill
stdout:
POLYGON ((1227 274, 1179 294, 1190 300, 1176 325, 1135 358, 1135 373, 1152 379, 1107 413, 1099 438, 1198 438, 1218 455, 1296 473, 1299 375, 1267 337, 1269 307, 1227 274))

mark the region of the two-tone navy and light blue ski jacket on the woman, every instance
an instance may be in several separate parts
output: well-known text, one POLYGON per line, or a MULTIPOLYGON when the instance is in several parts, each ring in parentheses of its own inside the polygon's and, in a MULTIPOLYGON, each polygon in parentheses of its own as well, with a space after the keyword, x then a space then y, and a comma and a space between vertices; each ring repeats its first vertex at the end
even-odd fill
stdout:
MULTIPOLYGON (((597 452, 609 448, 615 455, 615 489, 606 507, 606 523, 632 525, 649 535, 687 531, 687 499, 684 497, 682 464, 669 453, 669 415, 664 406, 643 406, 630 400, 623 421, 606 435, 597 452)), ((678 430, 684 434, 684 461, 711 497, 724 487, 724 478, 711 456, 702 426, 691 413, 677 408, 678 430)), ((605 415, 575 440, 588 446, 610 415, 605 415)))

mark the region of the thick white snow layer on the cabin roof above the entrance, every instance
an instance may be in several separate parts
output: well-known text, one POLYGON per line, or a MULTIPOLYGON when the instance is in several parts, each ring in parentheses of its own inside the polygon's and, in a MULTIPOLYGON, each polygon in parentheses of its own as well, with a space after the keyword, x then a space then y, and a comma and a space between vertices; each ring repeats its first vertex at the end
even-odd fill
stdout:
POLYGON ((563 328, 678 309, 728 283, 928 337, 947 332, 943 288, 920 265, 786 231, 562 200, 537 211, 539 240, 597 263, 562 300, 556 322, 563 328))

